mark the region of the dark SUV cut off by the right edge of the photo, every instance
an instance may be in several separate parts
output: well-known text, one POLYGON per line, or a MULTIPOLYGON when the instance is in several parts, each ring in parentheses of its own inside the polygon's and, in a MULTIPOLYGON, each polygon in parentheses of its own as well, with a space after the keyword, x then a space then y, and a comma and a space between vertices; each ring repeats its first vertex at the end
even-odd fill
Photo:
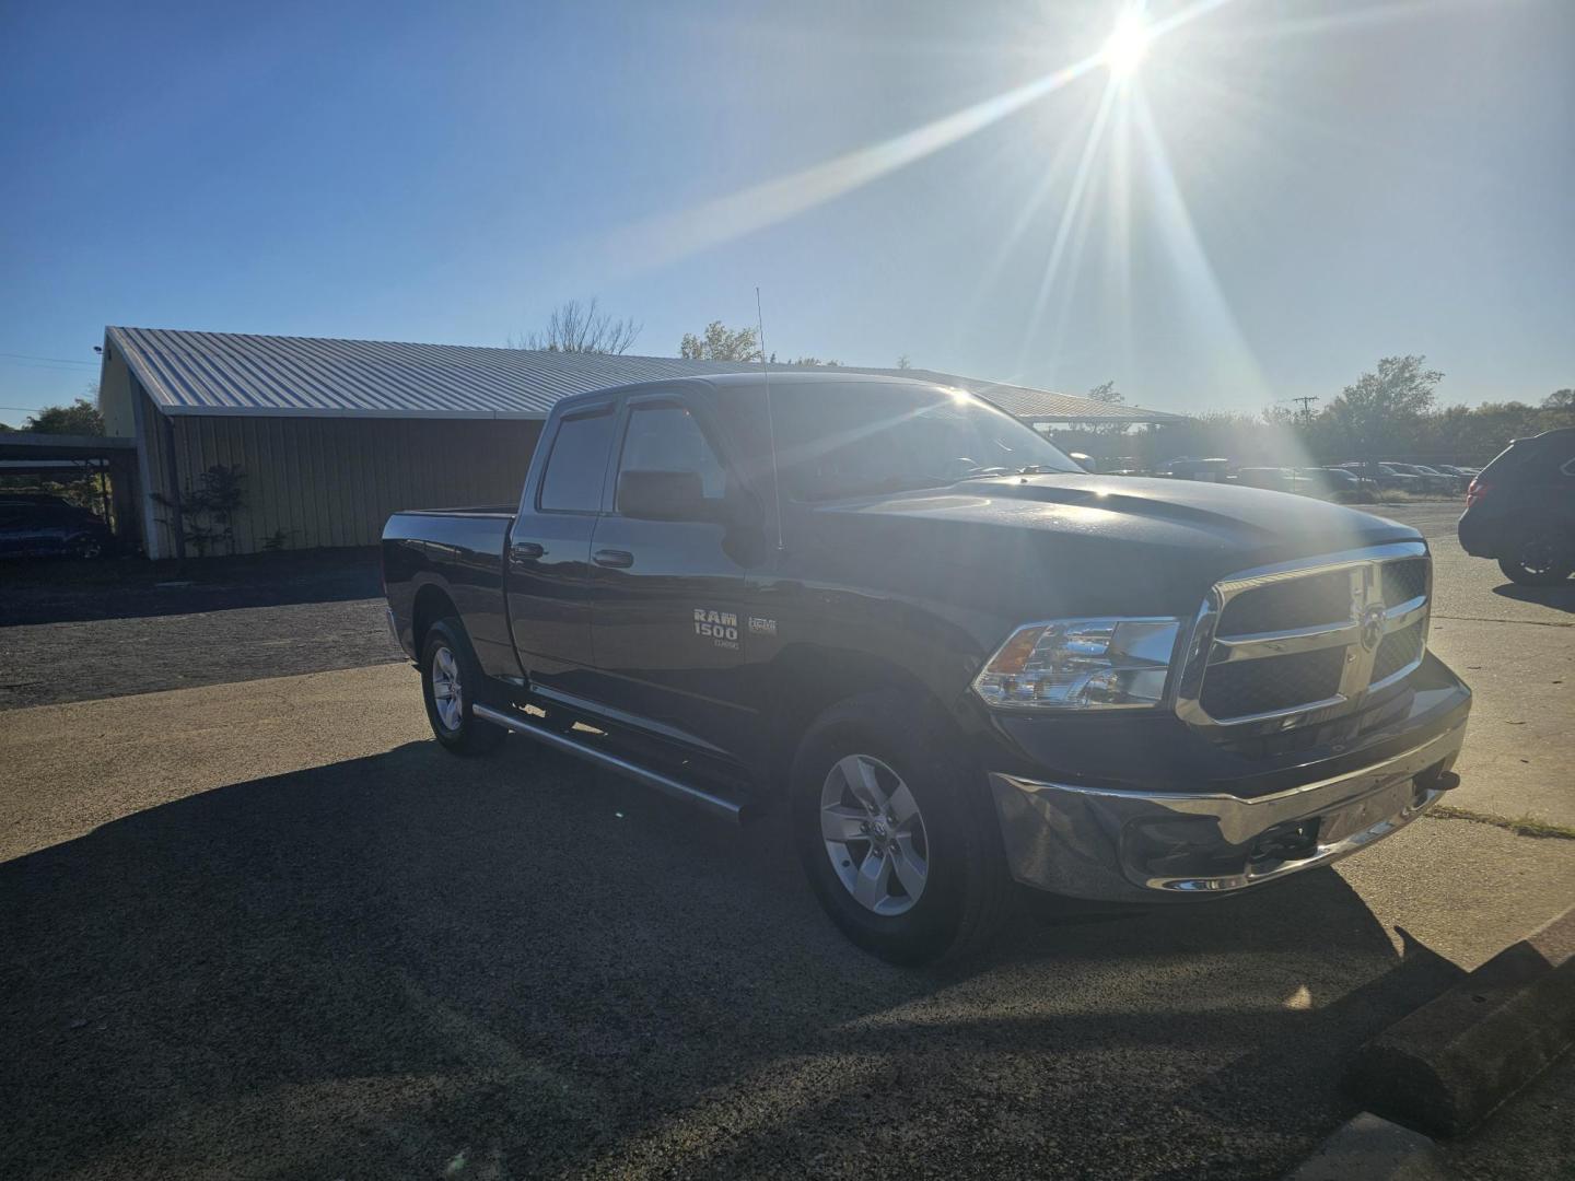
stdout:
POLYGON ((1553 586, 1575 570, 1575 427, 1515 439, 1466 490, 1460 548, 1507 578, 1553 586))

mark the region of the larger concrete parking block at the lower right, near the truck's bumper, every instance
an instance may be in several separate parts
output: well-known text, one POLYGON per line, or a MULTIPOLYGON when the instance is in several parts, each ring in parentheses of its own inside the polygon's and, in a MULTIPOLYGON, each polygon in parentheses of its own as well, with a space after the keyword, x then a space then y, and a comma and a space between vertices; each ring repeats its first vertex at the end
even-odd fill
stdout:
POLYGON ((1575 1041, 1575 907, 1369 1041, 1347 1075, 1364 1107, 1460 1135, 1575 1041))

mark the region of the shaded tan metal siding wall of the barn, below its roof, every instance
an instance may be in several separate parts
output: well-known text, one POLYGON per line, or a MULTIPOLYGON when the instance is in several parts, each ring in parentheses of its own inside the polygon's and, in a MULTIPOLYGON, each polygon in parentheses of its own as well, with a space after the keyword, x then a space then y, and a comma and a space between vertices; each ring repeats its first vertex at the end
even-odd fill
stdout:
MULTIPOLYGON (((150 468, 164 488, 162 417, 148 413, 150 468)), ((513 504, 539 420, 521 419, 170 419, 183 488, 213 465, 239 465, 246 509, 235 551, 255 553, 276 531, 288 550, 375 545, 400 509, 513 504)), ((167 513, 159 509, 159 516, 167 513)), ((173 539, 164 529, 173 553, 173 539)))

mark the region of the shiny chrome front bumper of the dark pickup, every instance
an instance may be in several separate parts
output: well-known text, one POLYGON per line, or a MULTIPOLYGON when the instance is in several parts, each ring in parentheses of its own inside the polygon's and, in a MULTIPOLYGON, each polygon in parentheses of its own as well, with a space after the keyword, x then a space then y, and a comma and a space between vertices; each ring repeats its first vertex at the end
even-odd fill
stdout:
POLYGON ((1466 720, 1413 750, 1332 779, 1254 800, 1106 790, 992 773, 1013 877, 1071 898, 1154 901, 1217 894, 1337 861, 1427 811, 1466 720))

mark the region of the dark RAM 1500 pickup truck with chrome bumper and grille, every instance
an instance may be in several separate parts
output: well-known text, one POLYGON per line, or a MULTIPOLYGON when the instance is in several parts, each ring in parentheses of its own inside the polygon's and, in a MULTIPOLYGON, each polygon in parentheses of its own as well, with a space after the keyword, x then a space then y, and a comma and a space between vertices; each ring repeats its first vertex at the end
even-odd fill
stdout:
POLYGON ((1418 532, 1306 498, 1084 472, 984 402, 822 373, 584 394, 518 507, 387 523, 439 743, 509 732, 743 820, 899 962, 1017 885, 1221 896, 1455 783, 1418 532))

